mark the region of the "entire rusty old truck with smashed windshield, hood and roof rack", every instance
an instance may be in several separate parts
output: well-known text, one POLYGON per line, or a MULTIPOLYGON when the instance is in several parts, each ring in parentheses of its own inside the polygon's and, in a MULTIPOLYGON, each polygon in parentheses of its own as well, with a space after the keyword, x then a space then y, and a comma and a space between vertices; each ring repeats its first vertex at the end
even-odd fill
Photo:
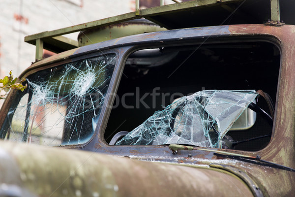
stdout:
POLYGON ((36 61, 0 110, 0 194, 294 195, 295 3, 138 6, 25 38, 36 61))

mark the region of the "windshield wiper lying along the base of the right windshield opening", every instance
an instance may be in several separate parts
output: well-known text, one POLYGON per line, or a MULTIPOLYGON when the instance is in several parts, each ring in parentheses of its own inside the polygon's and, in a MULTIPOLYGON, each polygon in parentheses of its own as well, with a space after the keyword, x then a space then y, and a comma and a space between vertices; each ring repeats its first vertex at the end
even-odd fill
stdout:
POLYGON ((274 167, 274 168, 278 168, 278 169, 283 169, 283 170, 295 172, 295 169, 293 169, 291 167, 287 167, 284 165, 275 164, 272 162, 268 162, 266 160, 262 160, 259 155, 257 155, 256 157, 253 157, 253 156, 241 155, 241 154, 230 153, 230 152, 225 152, 225 151, 211 150, 211 149, 205 149, 205 148, 196 148, 193 146, 185 146, 185 145, 179 145, 179 144, 170 144, 169 149, 172 150, 173 154, 177 154, 177 151, 179 151, 179 150, 209 151, 209 152, 213 152, 213 155, 215 155, 217 157, 230 158, 230 159, 235 159, 235 160, 248 162, 248 163, 252 163, 252 164, 259 164, 259 165, 264 165, 264 166, 268 166, 268 167, 274 167))

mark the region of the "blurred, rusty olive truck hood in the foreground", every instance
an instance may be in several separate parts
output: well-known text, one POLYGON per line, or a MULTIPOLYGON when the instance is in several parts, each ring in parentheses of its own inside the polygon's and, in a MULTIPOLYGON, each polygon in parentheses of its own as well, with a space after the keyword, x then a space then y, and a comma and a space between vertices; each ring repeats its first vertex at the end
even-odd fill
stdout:
POLYGON ((1 142, 0 160, 0 196, 257 196, 235 174, 202 165, 12 142, 1 142))

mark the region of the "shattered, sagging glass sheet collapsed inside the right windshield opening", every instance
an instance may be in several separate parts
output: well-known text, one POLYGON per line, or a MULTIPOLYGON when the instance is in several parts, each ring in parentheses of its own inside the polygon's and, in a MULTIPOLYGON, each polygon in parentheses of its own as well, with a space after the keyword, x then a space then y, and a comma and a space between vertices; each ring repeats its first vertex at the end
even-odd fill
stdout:
POLYGON ((254 90, 206 90, 156 111, 116 145, 190 144, 221 148, 221 140, 256 98, 254 90))

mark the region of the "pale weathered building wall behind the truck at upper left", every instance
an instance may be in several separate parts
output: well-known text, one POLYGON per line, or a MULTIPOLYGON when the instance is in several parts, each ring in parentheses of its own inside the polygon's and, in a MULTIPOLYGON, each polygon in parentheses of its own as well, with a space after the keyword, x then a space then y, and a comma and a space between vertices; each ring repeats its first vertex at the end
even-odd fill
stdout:
MULTIPOLYGON (((0 12, 0 77, 18 76, 34 61, 29 34, 102 19, 134 10, 135 0, 2 0, 0 12)), ((76 39, 77 34, 70 37, 76 39)))

